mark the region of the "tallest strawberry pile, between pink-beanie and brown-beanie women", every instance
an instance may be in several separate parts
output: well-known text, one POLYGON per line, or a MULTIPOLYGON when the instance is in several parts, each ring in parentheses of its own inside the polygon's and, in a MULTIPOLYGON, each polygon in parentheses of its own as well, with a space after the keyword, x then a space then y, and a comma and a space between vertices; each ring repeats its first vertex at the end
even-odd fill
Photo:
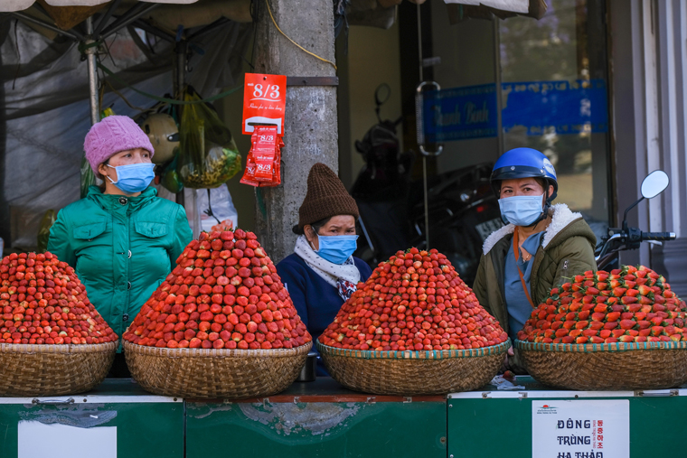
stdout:
POLYGON ((306 325, 252 232, 203 232, 141 308, 124 339, 203 349, 290 349, 306 325))

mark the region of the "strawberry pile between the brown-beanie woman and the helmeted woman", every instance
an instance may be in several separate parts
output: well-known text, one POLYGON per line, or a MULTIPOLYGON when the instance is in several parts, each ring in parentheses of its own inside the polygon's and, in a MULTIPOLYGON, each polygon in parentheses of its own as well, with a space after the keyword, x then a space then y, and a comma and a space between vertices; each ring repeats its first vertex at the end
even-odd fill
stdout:
POLYGON ((374 269, 319 337, 343 349, 464 350, 506 341, 447 257, 410 248, 374 269))

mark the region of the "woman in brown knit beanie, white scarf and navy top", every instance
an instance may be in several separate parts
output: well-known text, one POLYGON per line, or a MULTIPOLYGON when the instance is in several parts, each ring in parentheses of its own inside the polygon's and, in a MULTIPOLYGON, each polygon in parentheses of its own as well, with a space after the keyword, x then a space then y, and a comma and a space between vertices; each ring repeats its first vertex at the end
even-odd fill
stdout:
POLYGON ((372 275, 372 269, 352 256, 358 238, 358 206, 325 164, 310 169, 306 199, 298 215, 294 254, 277 265, 277 272, 315 339, 334 322, 343 303, 359 282, 372 275))

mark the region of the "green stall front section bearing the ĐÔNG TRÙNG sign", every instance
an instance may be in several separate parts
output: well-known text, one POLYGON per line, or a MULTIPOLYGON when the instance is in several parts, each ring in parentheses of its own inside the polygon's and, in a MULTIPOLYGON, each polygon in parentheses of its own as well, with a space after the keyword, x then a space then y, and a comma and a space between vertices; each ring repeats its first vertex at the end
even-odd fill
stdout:
POLYGON ((447 397, 448 458, 687 456, 687 389, 563 391, 530 377, 447 397), (662 439, 663 437, 663 439, 662 439))

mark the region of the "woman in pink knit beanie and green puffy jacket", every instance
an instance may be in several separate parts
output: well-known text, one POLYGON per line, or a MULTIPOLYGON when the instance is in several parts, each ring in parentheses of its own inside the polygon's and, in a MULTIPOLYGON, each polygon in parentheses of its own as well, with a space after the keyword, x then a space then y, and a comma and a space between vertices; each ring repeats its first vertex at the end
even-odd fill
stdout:
POLYGON ((131 118, 105 117, 90 128, 84 150, 105 184, 60 211, 48 250, 76 269, 90 302, 121 337, 192 232, 184 207, 148 188, 155 151, 131 118))

